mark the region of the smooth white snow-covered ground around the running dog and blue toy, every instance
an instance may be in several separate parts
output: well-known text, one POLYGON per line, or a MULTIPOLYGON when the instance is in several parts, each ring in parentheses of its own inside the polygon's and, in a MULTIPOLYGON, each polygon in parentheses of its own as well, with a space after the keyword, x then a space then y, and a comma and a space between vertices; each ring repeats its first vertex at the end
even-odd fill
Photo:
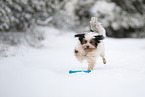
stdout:
POLYGON ((106 38, 91 73, 73 55, 74 33, 45 28, 44 47, 0 60, 0 97, 145 97, 145 39, 106 38), (49 33, 49 34, 48 34, 49 33))

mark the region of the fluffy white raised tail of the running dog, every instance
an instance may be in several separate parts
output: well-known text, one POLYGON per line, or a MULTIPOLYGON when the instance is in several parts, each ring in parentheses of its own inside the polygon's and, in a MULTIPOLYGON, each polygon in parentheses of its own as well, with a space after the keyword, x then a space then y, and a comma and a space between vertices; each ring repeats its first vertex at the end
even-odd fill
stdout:
POLYGON ((91 26, 91 30, 93 30, 94 32, 97 32, 97 33, 103 35, 104 37, 106 37, 106 31, 102 27, 101 23, 98 22, 97 18, 95 18, 95 17, 91 18, 90 26, 91 26))

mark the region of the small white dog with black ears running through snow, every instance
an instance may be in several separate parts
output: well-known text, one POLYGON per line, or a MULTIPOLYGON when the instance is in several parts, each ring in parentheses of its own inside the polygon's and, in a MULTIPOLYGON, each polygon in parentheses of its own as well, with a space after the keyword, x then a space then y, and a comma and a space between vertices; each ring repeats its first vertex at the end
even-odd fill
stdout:
POLYGON ((106 31, 95 17, 90 21, 91 32, 75 34, 79 43, 74 49, 76 58, 82 62, 84 59, 88 62, 88 70, 93 70, 96 64, 96 58, 101 56, 103 63, 106 64, 104 38, 106 31))

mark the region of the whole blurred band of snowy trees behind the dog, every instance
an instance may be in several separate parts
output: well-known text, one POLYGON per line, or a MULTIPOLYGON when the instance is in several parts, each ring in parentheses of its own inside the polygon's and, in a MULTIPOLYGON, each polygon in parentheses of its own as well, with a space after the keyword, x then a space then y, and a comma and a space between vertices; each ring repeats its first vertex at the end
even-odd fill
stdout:
POLYGON ((145 37, 145 0, 1 0, 0 32, 24 32, 34 25, 88 31, 93 16, 108 37, 145 37))

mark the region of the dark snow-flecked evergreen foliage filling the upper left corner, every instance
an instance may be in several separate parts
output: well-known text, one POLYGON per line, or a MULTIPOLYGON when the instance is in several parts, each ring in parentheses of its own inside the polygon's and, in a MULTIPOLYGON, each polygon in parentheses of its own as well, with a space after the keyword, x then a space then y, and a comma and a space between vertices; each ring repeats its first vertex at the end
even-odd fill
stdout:
POLYGON ((62 6, 63 0, 1 0, 0 31, 23 31, 37 20, 46 19, 62 6))

